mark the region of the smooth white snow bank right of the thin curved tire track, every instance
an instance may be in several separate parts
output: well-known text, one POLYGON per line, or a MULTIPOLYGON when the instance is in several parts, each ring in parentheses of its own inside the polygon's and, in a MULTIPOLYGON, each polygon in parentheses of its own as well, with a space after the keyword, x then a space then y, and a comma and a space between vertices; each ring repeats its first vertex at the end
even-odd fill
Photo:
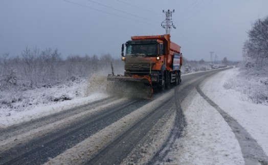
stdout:
MULTIPOLYGON (((234 86, 241 83, 238 74, 238 69, 219 72, 204 84, 202 91, 221 109, 235 118, 257 140, 267 155, 268 107, 264 104, 255 104, 247 94, 239 90, 226 89, 226 83, 232 82, 234 86)), ((253 87, 248 86, 248 88, 253 87)))

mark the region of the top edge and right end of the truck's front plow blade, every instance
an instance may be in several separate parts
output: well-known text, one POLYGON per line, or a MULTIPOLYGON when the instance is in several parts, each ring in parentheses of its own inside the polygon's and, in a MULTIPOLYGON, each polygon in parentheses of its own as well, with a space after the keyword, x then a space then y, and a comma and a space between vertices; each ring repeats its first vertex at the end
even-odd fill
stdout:
POLYGON ((132 75, 132 76, 123 76, 123 75, 113 75, 109 74, 107 77, 108 81, 130 81, 130 82, 137 82, 143 84, 143 89, 146 93, 146 95, 151 98, 153 90, 152 90, 152 83, 151 83, 151 77, 149 76, 138 76, 138 75, 132 75))

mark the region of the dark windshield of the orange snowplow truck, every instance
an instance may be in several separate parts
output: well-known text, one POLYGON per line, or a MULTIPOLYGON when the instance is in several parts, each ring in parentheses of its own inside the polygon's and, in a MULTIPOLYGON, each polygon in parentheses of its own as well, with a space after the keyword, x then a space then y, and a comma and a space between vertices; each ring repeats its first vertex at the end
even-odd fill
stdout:
POLYGON ((132 44, 126 46, 126 55, 156 56, 157 44, 132 44))

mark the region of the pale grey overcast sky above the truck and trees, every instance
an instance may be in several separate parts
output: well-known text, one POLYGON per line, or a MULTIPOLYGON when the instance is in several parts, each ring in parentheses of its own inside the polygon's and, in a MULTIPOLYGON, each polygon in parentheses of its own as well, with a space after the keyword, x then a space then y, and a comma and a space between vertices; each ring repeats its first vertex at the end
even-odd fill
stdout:
POLYGON ((63 57, 110 53, 133 35, 164 34, 162 10, 175 10, 171 40, 190 60, 242 59, 247 31, 268 16, 267 0, 0 0, 0 53, 28 46, 57 48, 63 57))

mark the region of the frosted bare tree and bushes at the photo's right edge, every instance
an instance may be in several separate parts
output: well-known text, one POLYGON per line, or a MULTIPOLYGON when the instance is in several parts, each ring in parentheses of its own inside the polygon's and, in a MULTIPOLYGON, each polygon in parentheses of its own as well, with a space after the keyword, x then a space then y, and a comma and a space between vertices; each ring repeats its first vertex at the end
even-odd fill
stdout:
POLYGON ((240 74, 224 87, 240 91, 257 104, 268 105, 268 16, 257 19, 248 34, 240 74))

